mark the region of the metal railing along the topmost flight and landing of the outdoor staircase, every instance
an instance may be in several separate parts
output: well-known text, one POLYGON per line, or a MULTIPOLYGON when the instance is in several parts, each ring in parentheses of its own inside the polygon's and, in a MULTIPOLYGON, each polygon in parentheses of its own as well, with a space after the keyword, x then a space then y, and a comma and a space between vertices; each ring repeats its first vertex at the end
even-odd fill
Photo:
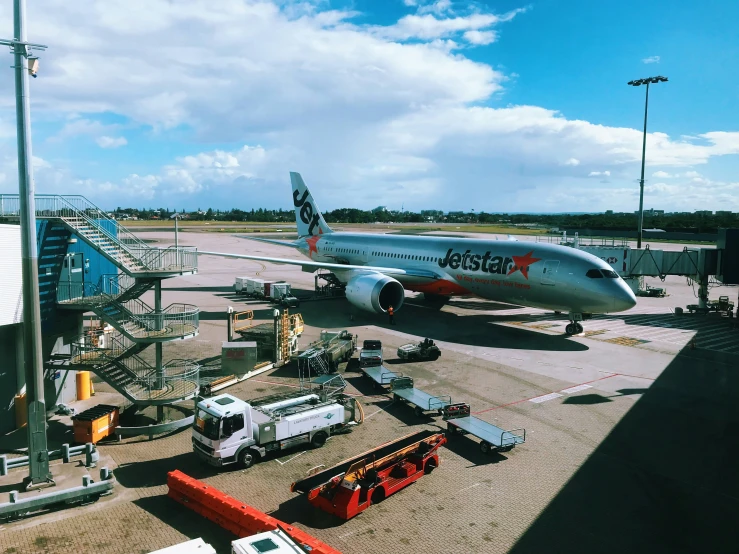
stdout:
MULTIPOLYGON (((144 271, 180 271, 197 268, 197 249, 192 247, 155 248, 147 245, 136 235, 120 225, 115 219, 108 217, 100 208, 84 196, 60 196, 50 194, 36 195, 36 217, 57 218, 64 220, 72 228, 79 230, 84 236, 83 225, 98 233, 111 243, 113 252, 105 253, 123 266, 130 266, 131 261, 140 264, 144 271), (101 222, 107 224, 103 225, 101 222), (113 229, 111 231, 110 229, 113 229), (130 260, 124 260, 125 256, 130 260)), ((20 199, 17 194, 0 194, 0 217, 19 217, 20 199)), ((88 240, 95 242, 92 238, 88 240)), ((99 241, 102 242, 102 241, 99 241)), ((136 270, 137 268, 132 268, 136 270)))

